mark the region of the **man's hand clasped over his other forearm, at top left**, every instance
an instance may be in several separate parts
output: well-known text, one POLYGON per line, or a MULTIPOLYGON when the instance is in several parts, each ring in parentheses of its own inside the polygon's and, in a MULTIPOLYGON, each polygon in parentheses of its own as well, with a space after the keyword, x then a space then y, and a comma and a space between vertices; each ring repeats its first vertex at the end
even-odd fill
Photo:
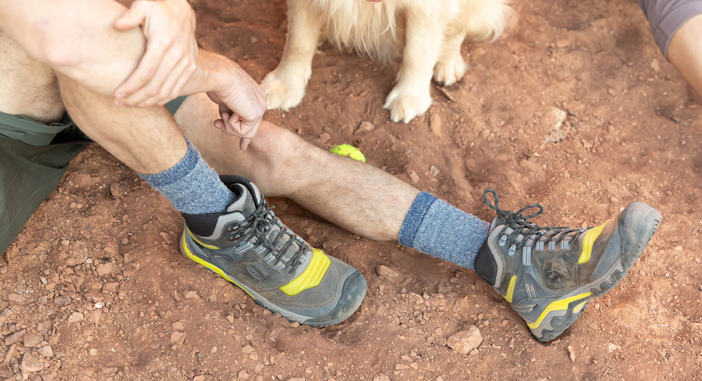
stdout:
POLYGON ((197 64, 195 13, 186 0, 137 0, 114 22, 119 30, 142 26, 146 53, 114 92, 118 105, 165 105, 180 91, 197 64))

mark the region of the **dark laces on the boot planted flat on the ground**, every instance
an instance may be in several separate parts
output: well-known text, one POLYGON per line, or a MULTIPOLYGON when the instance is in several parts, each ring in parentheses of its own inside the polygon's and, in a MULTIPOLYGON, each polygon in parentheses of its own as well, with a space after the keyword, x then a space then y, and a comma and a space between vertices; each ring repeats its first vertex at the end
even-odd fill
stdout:
POLYGON ((251 213, 249 217, 227 228, 227 232, 232 234, 229 240, 236 241, 238 239, 239 243, 237 243, 237 246, 244 242, 251 242, 254 248, 263 246, 263 248, 265 248, 265 251, 261 254, 263 258, 266 258, 267 255, 272 253, 278 262, 283 262, 282 257, 288 248, 290 248, 293 243, 297 243, 298 249, 290 260, 288 260, 286 265, 286 267, 290 267, 288 271, 289 274, 293 274, 295 269, 302 263, 300 257, 305 253, 307 245, 305 245, 303 239, 293 233, 292 230, 288 229, 281 222, 278 222, 278 219, 273 213, 274 208, 274 206, 268 208, 265 200, 262 201, 256 211, 251 213), (278 225, 279 230, 277 234, 270 236, 268 233, 271 231, 273 225, 278 225), (285 235, 289 236, 288 241, 286 241, 280 249, 276 248, 276 243, 283 239, 285 235), (254 237, 254 241, 250 241, 252 237, 254 237))

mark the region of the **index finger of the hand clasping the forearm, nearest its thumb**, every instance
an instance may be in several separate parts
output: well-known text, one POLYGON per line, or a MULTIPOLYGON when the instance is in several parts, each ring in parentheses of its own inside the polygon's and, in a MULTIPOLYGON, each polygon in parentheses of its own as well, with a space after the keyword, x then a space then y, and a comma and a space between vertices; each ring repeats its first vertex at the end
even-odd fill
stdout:
MULTIPOLYGON (((117 100, 121 100, 121 102, 132 106, 138 103, 125 98, 131 98, 131 95, 133 95, 135 91, 143 88, 153 79, 154 74, 156 74, 163 63, 161 60, 163 60, 164 55, 166 55, 168 47, 171 46, 171 42, 172 41, 168 39, 157 38, 146 41, 146 53, 139 62, 138 67, 114 92, 114 96, 117 100)), ((140 95, 139 98, 139 102, 143 102, 148 97, 140 95)))

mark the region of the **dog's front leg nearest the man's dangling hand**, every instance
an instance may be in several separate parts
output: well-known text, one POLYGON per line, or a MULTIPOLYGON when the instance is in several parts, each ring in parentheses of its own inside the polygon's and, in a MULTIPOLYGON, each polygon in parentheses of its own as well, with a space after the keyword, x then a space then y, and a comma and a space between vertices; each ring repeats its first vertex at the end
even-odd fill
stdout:
POLYGON ((261 82, 268 93, 268 109, 288 111, 303 100, 321 29, 322 15, 309 1, 288 1, 288 40, 283 58, 261 82))

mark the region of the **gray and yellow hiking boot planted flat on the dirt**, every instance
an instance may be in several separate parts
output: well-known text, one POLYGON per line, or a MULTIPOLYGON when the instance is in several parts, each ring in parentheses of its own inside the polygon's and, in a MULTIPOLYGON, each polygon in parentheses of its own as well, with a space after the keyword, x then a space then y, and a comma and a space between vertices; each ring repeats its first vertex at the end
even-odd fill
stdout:
POLYGON ((290 321, 331 326, 358 309, 366 279, 357 269, 310 247, 283 225, 249 180, 220 179, 237 200, 226 213, 183 213, 184 255, 290 321))

